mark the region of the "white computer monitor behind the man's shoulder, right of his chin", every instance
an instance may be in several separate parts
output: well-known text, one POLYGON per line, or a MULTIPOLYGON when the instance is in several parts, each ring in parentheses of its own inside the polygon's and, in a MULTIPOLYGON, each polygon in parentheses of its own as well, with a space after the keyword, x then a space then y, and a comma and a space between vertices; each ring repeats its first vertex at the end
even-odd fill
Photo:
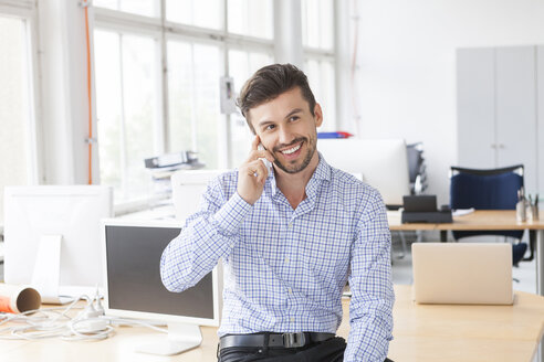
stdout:
POLYGON ((332 167, 363 173, 363 181, 376 188, 388 206, 402 205, 402 196, 410 194, 402 139, 320 139, 317 150, 332 167))

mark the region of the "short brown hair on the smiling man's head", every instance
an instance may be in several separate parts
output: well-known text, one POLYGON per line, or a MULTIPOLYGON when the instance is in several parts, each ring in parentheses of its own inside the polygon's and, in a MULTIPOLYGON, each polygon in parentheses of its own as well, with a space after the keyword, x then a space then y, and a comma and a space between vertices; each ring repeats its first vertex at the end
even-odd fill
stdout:
POLYGON ((310 111, 314 116, 315 98, 312 89, 310 89, 307 77, 293 64, 264 66, 245 82, 237 104, 253 134, 255 129, 249 119, 249 110, 295 87, 301 88, 302 97, 308 103, 310 111))

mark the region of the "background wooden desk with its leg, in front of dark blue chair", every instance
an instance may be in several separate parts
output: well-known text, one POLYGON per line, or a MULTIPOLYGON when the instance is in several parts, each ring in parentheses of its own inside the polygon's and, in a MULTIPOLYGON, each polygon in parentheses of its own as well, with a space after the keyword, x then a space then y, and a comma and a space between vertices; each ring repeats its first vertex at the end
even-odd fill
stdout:
POLYGON ((519 223, 515 220, 515 211, 513 210, 477 210, 471 214, 453 217, 452 223, 443 224, 401 224, 400 217, 389 217, 389 228, 391 231, 534 230, 536 231, 536 292, 544 296, 544 220, 519 223))

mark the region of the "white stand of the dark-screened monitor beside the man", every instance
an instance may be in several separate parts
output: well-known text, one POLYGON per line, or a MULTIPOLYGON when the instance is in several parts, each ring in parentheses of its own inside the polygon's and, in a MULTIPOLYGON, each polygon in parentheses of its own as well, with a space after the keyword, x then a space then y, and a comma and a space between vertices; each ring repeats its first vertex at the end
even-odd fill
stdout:
POLYGON ((155 341, 138 345, 136 352, 174 355, 197 348, 202 342, 198 324, 168 322, 168 337, 160 336, 155 341))

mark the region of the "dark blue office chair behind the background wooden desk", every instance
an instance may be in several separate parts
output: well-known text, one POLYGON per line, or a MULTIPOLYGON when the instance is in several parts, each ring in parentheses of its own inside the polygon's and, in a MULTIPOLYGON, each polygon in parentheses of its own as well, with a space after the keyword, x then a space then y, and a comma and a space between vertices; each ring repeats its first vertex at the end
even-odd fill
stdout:
MULTIPOLYGON (((523 187, 523 164, 479 170, 451 167, 450 206, 475 210, 515 210, 517 190, 523 187)), ((521 241, 524 231, 454 231, 456 241, 478 235, 499 235, 521 241)), ((525 243, 513 244, 513 265, 523 259, 525 243)))

